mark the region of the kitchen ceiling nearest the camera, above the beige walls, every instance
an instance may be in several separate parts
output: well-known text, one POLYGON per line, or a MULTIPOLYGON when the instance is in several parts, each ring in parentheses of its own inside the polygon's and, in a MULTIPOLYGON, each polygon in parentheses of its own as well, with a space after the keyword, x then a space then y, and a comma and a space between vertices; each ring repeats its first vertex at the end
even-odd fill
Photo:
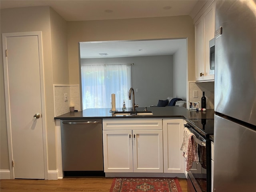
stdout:
POLYGON ((50 6, 66 21, 189 15, 198 0, 0 0, 0 8, 50 6))

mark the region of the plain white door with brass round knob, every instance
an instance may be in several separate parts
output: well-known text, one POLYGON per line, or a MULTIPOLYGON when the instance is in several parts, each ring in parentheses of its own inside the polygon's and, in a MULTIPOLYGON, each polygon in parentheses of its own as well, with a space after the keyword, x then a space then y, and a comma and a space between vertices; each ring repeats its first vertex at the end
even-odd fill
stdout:
POLYGON ((3 34, 10 170, 14 178, 44 179, 41 40, 25 34, 29 33, 3 34), (34 118, 36 113, 40 117, 34 118))

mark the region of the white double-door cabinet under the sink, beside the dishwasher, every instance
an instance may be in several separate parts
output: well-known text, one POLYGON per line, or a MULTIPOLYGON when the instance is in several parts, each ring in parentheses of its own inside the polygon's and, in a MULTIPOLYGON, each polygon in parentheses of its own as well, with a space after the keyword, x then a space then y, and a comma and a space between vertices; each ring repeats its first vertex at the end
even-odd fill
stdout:
POLYGON ((163 172, 162 119, 103 120, 104 172, 163 172))

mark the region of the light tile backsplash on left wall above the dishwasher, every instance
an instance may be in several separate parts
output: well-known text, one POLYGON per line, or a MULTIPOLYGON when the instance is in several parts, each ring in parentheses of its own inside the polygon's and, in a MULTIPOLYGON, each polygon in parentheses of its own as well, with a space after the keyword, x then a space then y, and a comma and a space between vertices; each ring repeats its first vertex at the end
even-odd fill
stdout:
POLYGON ((54 85, 55 116, 69 112, 70 106, 80 111, 79 90, 79 85, 54 85), (64 94, 67 94, 67 101, 64 101, 64 94))

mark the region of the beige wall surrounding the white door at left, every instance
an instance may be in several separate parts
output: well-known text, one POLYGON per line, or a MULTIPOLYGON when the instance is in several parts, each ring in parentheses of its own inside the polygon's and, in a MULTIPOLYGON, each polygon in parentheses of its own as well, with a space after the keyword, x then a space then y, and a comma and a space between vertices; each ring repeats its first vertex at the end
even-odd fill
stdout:
MULTIPOLYGON (((2 33, 42 31, 44 86, 46 104, 46 131, 48 150, 48 170, 56 170, 56 136, 54 124, 53 84, 69 84, 66 21, 48 6, 10 8, 1 10, 0 32, 2 33), (63 47, 61 47, 63 46, 63 47), (54 54, 54 55, 53 55, 54 54), (63 71, 62 71, 63 69, 63 71), (61 71, 61 72, 60 72, 61 71)), ((1 126, 0 126, 0 170, 9 170, 8 145, 6 131, 6 110, 4 99, 3 55, 1 57, 1 126)))

